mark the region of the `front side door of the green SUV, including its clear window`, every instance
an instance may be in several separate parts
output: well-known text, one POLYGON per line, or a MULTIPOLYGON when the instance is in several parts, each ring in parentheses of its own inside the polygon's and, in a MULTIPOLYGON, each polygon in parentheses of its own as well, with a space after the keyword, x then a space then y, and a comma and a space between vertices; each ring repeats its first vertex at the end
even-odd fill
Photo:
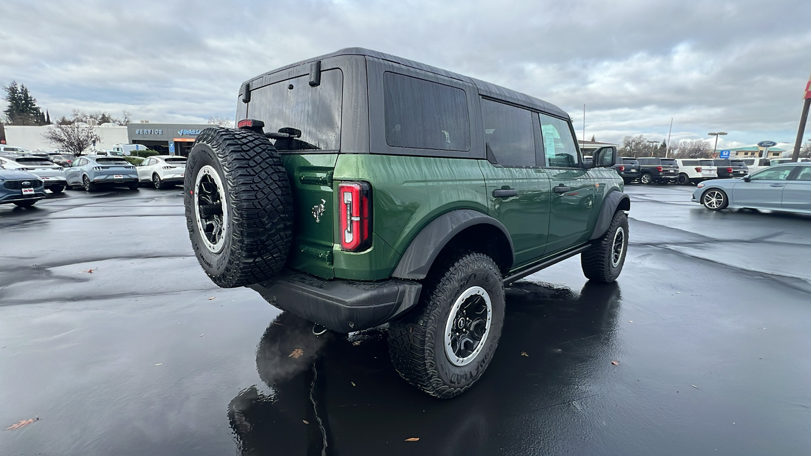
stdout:
POLYGON ((551 184, 548 255, 589 239, 595 183, 581 166, 571 124, 547 114, 539 114, 539 122, 551 184))

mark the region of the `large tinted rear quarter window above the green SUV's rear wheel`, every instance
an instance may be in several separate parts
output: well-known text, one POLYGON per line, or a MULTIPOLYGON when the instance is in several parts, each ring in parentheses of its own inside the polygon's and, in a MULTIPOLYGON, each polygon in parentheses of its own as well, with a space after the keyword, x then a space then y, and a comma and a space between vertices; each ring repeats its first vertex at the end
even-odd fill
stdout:
POLYGON ((464 90, 391 71, 384 74, 383 89, 388 145, 470 150, 464 90))

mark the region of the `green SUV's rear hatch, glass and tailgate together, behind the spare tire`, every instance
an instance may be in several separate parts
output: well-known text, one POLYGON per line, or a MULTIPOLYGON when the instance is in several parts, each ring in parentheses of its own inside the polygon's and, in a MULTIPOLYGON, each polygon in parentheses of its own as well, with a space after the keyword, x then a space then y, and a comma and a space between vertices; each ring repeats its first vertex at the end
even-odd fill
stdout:
POLYGON ((335 277, 333 170, 341 148, 343 84, 341 70, 328 64, 312 84, 305 64, 251 81, 247 108, 238 102, 238 113, 264 122, 290 176, 295 217, 288 265, 324 278, 335 277))

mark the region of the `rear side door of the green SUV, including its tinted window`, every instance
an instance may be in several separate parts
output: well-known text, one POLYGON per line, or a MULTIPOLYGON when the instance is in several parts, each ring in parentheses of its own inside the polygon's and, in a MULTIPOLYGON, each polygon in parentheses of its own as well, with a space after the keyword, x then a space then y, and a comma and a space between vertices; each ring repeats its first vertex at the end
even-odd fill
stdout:
POLYGON ((543 257, 547 249, 550 184, 537 162, 537 114, 483 98, 487 161, 479 161, 490 215, 503 223, 515 248, 514 267, 543 257))

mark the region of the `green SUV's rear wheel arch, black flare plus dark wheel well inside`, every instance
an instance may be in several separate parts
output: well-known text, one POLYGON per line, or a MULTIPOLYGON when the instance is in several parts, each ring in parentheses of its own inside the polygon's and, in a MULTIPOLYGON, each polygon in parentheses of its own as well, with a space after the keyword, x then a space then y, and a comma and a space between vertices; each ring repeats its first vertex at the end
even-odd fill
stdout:
POLYGON ((503 273, 515 261, 513 239, 498 220, 473 209, 441 214, 414 236, 392 273, 393 277, 419 280, 445 248, 468 248, 491 256, 503 273))

